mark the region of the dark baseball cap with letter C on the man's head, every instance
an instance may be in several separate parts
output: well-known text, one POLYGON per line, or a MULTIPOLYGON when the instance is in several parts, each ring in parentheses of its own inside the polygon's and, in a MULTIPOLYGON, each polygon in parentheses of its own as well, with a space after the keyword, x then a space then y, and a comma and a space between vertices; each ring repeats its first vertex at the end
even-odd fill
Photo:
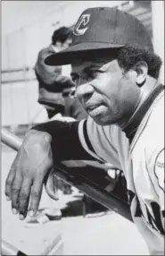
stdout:
POLYGON ((88 8, 78 18, 70 47, 48 56, 45 64, 71 64, 92 51, 128 45, 153 51, 152 39, 141 21, 117 7, 88 8))

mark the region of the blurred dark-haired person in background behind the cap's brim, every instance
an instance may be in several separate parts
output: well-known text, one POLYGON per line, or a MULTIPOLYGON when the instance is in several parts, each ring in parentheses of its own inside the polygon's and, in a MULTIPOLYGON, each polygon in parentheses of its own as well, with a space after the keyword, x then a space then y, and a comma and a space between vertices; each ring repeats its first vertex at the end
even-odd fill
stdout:
POLYGON ((52 118, 58 113, 64 114, 62 90, 74 88, 75 84, 69 76, 62 74, 62 66, 48 66, 44 61, 47 56, 69 47, 71 43, 70 37, 70 28, 61 27, 55 30, 51 45, 41 49, 37 56, 35 73, 39 85, 38 103, 45 107, 48 118, 52 118))

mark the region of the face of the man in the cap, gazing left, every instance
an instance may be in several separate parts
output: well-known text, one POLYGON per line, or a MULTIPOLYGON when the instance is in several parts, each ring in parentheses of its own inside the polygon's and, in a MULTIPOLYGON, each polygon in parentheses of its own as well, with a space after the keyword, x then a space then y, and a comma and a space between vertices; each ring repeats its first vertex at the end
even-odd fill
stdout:
POLYGON ((76 96, 97 124, 122 124, 132 115, 139 98, 136 73, 127 74, 117 59, 77 60, 71 64, 76 96))

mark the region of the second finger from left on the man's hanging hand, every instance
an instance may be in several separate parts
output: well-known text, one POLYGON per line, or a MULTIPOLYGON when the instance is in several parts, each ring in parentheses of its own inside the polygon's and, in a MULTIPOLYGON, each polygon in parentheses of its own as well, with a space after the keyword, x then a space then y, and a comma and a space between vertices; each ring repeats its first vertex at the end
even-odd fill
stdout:
POLYGON ((19 194, 21 191, 22 176, 16 174, 12 182, 11 200, 12 200, 12 213, 16 214, 19 211, 19 194))

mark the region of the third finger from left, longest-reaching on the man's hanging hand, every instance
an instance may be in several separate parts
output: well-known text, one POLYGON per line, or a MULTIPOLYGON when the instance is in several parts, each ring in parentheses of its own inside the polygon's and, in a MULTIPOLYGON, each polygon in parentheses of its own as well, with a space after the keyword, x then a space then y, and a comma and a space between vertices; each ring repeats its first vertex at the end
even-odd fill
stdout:
POLYGON ((29 207, 29 197, 31 192, 32 180, 24 178, 21 184, 21 192, 19 194, 19 212, 20 219, 24 219, 27 216, 28 207, 29 207))

